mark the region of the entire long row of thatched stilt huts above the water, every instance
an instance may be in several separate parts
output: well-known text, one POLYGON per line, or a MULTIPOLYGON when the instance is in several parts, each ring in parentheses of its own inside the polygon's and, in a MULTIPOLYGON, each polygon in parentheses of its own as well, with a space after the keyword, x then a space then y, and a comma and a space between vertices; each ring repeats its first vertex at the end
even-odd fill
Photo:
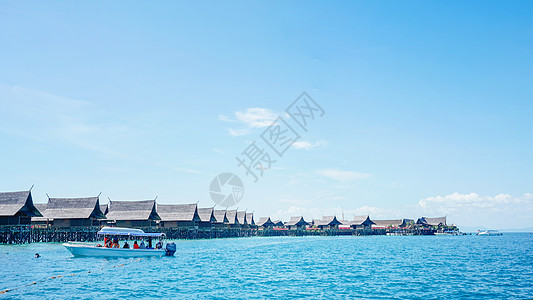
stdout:
POLYGON ((352 220, 336 216, 306 221, 302 216, 288 222, 262 217, 255 222, 253 212, 198 208, 193 204, 158 204, 156 200, 115 201, 101 204, 98 196, 49 198, 34 204, 31 190, 0 193, 0 225, 33 224, 43 227, 111 225, 119 227, 188 228, 272 228, 272 229, 387 229, 447 226, 446 217, 372 220, 368 215, 352 220))

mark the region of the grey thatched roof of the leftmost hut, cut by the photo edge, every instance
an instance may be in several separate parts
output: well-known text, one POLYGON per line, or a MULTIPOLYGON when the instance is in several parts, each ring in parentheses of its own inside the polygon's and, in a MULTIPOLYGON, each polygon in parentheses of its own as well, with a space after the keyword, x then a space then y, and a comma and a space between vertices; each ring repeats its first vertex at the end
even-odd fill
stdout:
POLYGON ((41 216, 33 205, 31 191, 0 193, 0 217, 13 217, 19 212, 29 217, 41 216))

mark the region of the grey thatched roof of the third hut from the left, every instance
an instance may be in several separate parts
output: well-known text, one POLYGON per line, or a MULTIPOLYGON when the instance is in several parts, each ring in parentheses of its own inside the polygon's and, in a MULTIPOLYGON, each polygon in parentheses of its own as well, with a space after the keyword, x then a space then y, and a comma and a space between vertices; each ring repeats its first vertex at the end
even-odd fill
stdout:
POLYGON ((109 200, 108 220, 139 221, 160 220, 155 209, 155 200, 115 201, 109 200))

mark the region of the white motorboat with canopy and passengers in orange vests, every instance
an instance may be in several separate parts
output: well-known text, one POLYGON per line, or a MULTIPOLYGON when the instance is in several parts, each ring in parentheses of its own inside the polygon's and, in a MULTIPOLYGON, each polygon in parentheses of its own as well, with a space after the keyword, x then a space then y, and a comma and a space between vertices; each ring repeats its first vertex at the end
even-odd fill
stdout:
MULTIPOLYGON (((140 229, 104 227, 98 232, 98 236, 105 238, 128 239, 152 239, 164 238, 164 233, 145 233, 140 229)), ((103 243, 102 243, 103 244, 103 243)), ((63 246, 74 256, 101 256, 101 257, 142 257, 142 256, 173 256, 176 252, 176 244, 167 243, 165 248, 161 249, 133 249, 133 248, 108 248, 100 244, 90 245, 87 243, 68 242, 63 246)))

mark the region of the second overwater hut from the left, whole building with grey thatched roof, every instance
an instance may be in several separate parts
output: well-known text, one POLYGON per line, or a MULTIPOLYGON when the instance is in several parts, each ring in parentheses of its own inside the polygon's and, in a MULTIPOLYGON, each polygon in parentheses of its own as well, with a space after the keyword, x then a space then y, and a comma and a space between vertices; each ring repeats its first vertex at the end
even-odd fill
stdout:
POLYGON ((105 215, 100 210, 99 197, 49 198, 43 219, 35 223, 53 227, 98 226, 105 215))

